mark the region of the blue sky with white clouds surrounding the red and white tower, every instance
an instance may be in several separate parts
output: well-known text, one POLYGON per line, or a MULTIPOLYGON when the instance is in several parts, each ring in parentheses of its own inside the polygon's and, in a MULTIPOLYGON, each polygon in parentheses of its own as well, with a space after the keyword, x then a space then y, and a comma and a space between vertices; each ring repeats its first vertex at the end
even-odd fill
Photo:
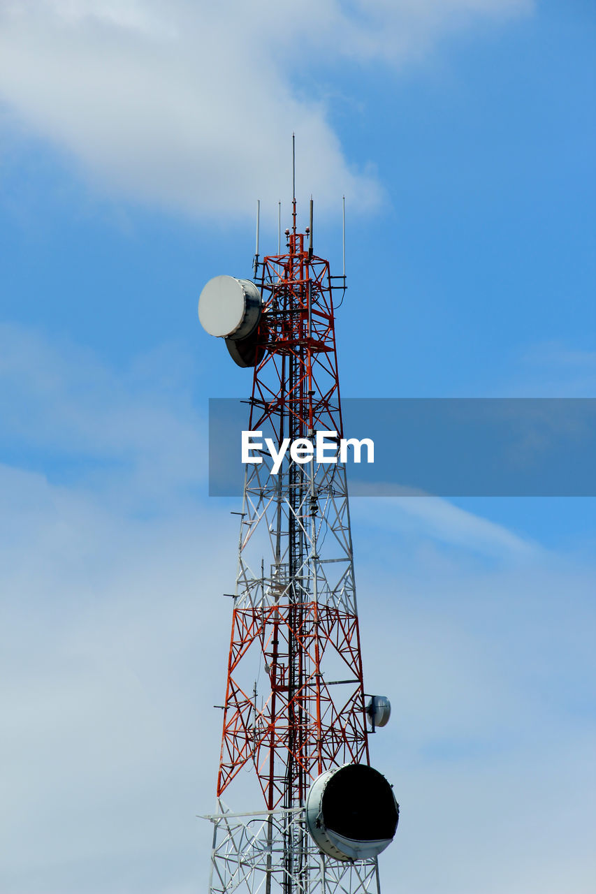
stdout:
MULTIPOLYGON (((595 31, 581 0, 0 2, 7 894, 204 888, 207 401, 250 374, 196 302, 250 274, 257 198, 276 250, 292 131, 337 272, 346 196, 346 397, 594 395, 595 31)), ((384 890, 588 894, 593 500, 359 498, 353 540, 384 890)))

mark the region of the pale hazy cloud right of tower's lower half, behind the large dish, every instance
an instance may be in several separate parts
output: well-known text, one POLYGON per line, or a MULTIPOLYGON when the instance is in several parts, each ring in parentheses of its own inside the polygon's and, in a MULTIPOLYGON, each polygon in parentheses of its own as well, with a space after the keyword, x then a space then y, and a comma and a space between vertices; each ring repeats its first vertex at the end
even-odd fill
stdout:
POLYGON ((367 686, 393 709, 371 758, 401 805, 382 883, 588 894, 593 569, 543 552, 486 572, 412 543, 358 562, 367 686))

